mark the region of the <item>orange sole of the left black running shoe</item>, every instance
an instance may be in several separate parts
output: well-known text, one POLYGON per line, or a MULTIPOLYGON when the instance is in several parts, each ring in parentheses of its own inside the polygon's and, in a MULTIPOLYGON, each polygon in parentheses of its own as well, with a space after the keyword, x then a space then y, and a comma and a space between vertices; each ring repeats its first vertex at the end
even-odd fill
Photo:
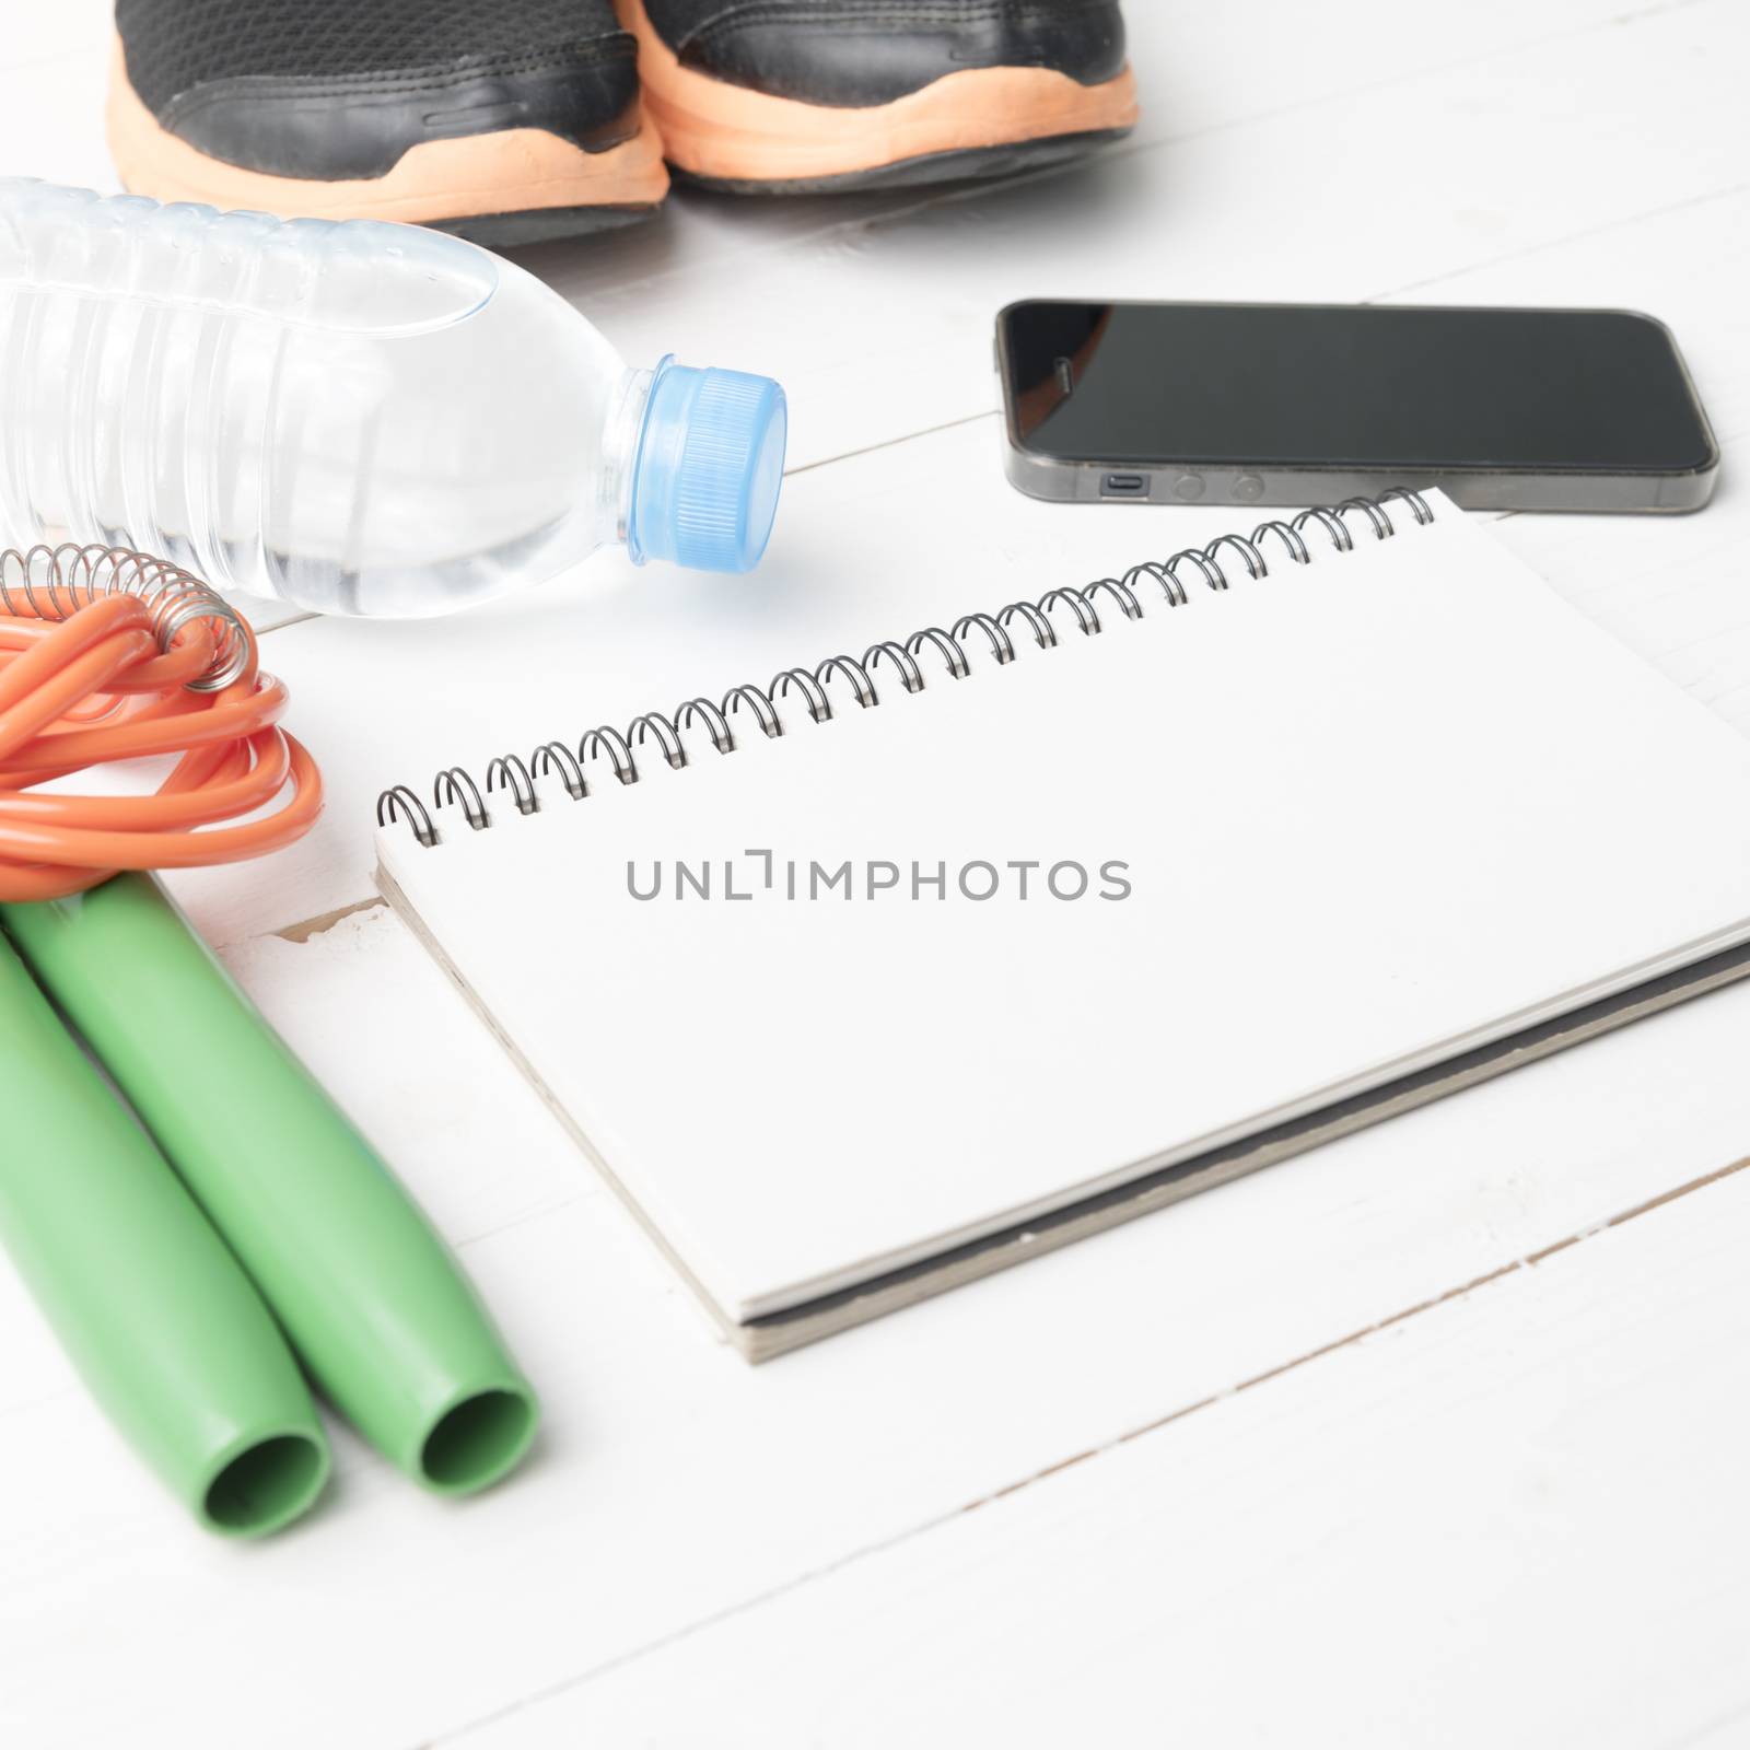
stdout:
POLYGON ((506 128, 422 140, 382 177, 320 182, 245 170, 159 126, 128 82, 119 38, 105 122, 110 156, 131 192, 285 219, 396 219, 478 242, 525 243, 639 219, 668 192, 662 140, 648 114, 634 138, 606 152, 584 152, 544 128, 506 128))

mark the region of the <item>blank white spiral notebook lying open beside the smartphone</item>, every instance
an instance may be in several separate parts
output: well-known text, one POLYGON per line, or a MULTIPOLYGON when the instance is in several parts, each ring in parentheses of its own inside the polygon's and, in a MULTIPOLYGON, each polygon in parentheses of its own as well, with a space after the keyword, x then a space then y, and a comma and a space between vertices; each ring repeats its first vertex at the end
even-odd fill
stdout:
POLYGON ((1750 742, 1438 494, 380 826, 383 891, 754 1360, 1750 970, 1750 742))

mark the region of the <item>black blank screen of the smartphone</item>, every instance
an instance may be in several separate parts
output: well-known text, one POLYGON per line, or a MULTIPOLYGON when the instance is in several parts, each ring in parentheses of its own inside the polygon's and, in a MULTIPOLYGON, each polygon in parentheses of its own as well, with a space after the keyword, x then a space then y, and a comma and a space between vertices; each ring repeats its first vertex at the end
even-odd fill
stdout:
POLYGON ((1020 303, 1015 441, 1064 462, 1678 472, 1713 444, 1620 310, 1020 303))

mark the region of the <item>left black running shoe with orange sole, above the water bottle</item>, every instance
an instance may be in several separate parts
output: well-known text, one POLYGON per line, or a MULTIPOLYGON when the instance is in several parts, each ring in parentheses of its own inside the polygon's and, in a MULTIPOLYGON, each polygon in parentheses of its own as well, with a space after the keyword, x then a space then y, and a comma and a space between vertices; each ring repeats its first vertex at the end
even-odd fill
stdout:
POLYGON ((667 192, 611 0, 116 0, 108 140, 158 200, 592 231, 667 192))

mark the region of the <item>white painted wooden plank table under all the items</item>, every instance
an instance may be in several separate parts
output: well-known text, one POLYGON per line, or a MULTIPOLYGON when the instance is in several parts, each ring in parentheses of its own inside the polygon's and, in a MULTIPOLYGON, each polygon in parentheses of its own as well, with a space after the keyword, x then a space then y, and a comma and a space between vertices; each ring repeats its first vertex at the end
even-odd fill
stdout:
MULTIPOLYGON (((9 1750, 1750 1743, 1750 987, 752 1370, 371 903, 383 782, 1080 581, 1066 518, 1227 527, 1001 485, 989 331, 1027 294, 1661 315, 1715 504, 1498 534, 1750 732, 1750 7, 1130 16, 1144 121, 1099 164, 677 198, 525 257, 634 359, 786 382, 754 579, 609 556, 464 621, 266 637, 329 814, 178 889, 460 1248, 546 1432, 457 1505, 336 1430, 315 1516, 220 1544, 0 1269, 9 1750), (506 696, 530 640, 564 696, 506 696)), ((105 0, 9 0, 0 170, 112 186, 107 38, 105 0)))

